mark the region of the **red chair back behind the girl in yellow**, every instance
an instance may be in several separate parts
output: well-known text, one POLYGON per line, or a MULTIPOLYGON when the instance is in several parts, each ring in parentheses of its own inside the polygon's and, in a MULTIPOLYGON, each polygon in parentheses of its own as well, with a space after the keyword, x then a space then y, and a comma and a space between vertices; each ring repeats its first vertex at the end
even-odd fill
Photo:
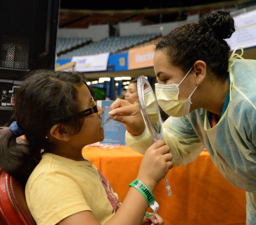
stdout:
POLYGON ((36 225, 21 183, 0 168, 0 224, 36 225))

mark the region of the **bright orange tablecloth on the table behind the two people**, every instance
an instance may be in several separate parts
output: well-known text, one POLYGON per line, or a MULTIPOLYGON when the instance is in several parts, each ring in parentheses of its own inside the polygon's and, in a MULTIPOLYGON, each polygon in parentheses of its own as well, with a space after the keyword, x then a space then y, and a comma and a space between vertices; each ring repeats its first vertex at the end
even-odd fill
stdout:
MULTIPOLYGON (((137 177, 143 156, 127 146, 86 147, 82 154, 105 175, 122 202, 129 184, 137 177)), ((187 166, 174 166, 168 177, 172 196, 167 195, 164 180, 154 191, 164 224, 245 224, 245 191, 218 172, 207 151, 187 166)))

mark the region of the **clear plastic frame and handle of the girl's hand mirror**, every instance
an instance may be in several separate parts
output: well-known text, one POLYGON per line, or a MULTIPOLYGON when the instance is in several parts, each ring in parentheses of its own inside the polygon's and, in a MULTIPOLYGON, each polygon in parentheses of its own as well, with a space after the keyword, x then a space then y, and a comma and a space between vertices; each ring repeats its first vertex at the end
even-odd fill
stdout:
MULTIPOLYGON (((151 123, 151 120, 149 118, 148 111, 147 111, 147 106, 146 106, 145 101, 144 101, 144 85, 145 84, 148 85, 149 90, 152 92, 152 97, 154 98, 154 101, 157 102, 156 96, 154 94, 154 91, 153 91, 149 81, 144 76, 140 76, 137 79, 137 89, 138 89, 139 102, 140 102, 140 106, 141 106, 141 110, 142 110, 142 116, 143 116, 143 118, 144 118, 144 120, 145 120, 145 122, 147 124, 147 127, 148 127, 148 129, 149 129, 149 131, 150 131, 154 141, 162 140, 163 128, 162 128, 160 111, 159 111, 159 108, 156 109, 158 111, 158 115, 159 115, 158 120, 159 120, 159 124, 160 124, 160 134, 158 134, 156 132, 155 128, 153 127, 152 123, 151 123)), ((170 183, 169 183, 168 176, 164 177, 164 181, 166 182, 167 194, 169 196, 171 196, 172 195, 172 191, 171 191, 171 186, 170 186, 170 183)))

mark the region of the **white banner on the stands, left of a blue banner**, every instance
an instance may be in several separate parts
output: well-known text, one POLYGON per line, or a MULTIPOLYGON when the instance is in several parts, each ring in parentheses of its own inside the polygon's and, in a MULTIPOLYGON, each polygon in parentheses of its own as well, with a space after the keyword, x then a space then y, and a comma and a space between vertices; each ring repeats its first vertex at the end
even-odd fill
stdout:
POLYGON ((72 57, 71 62, 76 62, 75 70, 81 72, 90 71, 103 71, 107 69, 107 61, 109 52, 95 54, 95 55, 82 55, 72 57))

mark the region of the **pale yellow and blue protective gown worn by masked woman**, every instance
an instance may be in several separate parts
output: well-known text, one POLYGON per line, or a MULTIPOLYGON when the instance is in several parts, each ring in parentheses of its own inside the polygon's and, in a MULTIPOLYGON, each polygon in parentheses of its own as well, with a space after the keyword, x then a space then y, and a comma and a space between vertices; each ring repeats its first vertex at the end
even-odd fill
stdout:
MULTIPOLYGON (((163 140, 171 147, 175 165, 194 161, 206 147, 218 171, 246 191, 246 224, 255 225, 256 61, 232 57, 229 73, 230 101, 220 121, 211 128, 203 108, 187 116, 169 117, 163 124, 163 140)), ((154 143, 147 129, 140 136, 127 132, 125 136, 126 144, 141 154, 154 143)))

